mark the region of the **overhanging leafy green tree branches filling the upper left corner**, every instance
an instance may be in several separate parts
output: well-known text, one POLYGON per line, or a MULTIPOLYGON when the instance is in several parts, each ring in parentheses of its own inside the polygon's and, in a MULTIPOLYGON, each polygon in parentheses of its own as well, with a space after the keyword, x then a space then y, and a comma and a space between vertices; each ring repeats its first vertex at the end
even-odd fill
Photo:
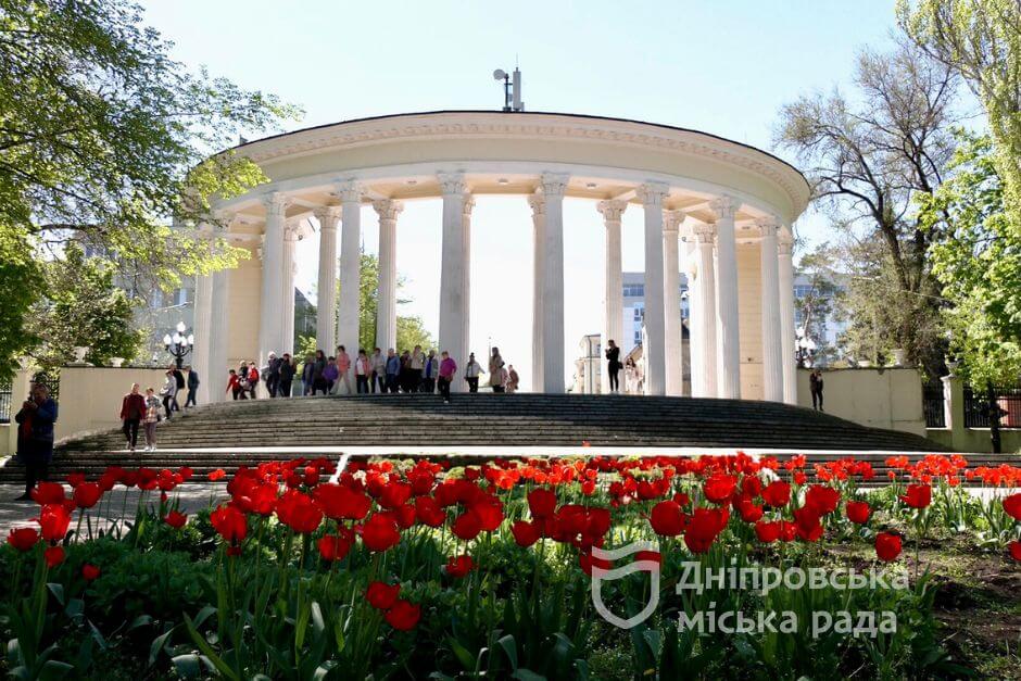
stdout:
POLYGON ((265 177, 234 153, 207 156, 298 112, 192 73, 171 48, 128 0, 0 2, 0 278, 25 277, 3 287, 0 374, 31 346, 20 327, 41 293, 33 263, 63 244, 167 288, 238 257, 190 227, 215 222, 212 197, 265 177))

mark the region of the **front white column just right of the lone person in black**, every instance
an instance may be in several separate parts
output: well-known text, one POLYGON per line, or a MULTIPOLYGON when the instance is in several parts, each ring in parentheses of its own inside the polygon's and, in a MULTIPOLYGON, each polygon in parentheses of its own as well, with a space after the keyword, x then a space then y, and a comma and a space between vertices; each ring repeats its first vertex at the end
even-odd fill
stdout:
POLYGON ((645 209, 645 394, 667 392, 665 316, 663 303, 663 200, 668 187, 646 182, 636 193, 645 209))

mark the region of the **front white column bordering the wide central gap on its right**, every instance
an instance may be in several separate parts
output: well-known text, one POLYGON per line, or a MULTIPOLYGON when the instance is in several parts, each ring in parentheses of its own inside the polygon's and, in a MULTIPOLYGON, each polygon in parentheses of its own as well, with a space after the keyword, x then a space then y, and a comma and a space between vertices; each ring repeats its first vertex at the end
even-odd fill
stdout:
POLYGON ((543 229, 543 369, 542 390, 560 394, 564 384, 564 192, 567 175, 543 173, 540 178, 546 201, 543 229))

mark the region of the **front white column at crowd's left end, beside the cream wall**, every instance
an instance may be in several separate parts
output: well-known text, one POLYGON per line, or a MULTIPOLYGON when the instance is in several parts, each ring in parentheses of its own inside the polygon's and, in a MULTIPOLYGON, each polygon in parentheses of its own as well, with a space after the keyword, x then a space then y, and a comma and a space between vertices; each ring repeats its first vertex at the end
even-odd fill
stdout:
MULTIPOLYGON (((259 314, 259 366, 265 366, 270 352, 279 354, 283 339, 280 311, 283 308, 283 220, 287 202, 273 192, 265 198, 266 228, 263 234, 262 300, 259 314)), ((215 367, 214 367, 215 370, 215 367)))

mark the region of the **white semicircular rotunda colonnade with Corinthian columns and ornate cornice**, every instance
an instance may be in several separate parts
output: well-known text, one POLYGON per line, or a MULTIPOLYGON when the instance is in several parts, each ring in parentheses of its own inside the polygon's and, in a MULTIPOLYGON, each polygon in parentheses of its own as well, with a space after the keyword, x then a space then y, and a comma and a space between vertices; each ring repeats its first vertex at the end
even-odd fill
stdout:
POLYGON ((442 199, 439 349, 463 363, 471 232, 486 229, 471 224, 475 197, 518 194, 533 223, 534 391, 565 391, 563 203, 572 197, 591 200, 605 225, 604 346, 623 335, 621 215, 644 216, 647 393, 683 392, 676 314, 683 272, 692 396, 796 402, 791 226, 809 186, 767 152, 666 125, 520 111, 348 121, 235 152, 259 164, 269 182, 216 205, 222 226, 202 226, 226 230, 252 255, 197 281, 193 363, 206 401, 224 399, 236 360, 257 357, 262 366, 270 351, 293 351, 299 238, 318 238, 319 310, 338 311, 318 315, 318 346, 343 344, 356 354, 364 205, 379 216, 376 345, 386 350, 396 340, 401 211, 408 201, 442 199))

